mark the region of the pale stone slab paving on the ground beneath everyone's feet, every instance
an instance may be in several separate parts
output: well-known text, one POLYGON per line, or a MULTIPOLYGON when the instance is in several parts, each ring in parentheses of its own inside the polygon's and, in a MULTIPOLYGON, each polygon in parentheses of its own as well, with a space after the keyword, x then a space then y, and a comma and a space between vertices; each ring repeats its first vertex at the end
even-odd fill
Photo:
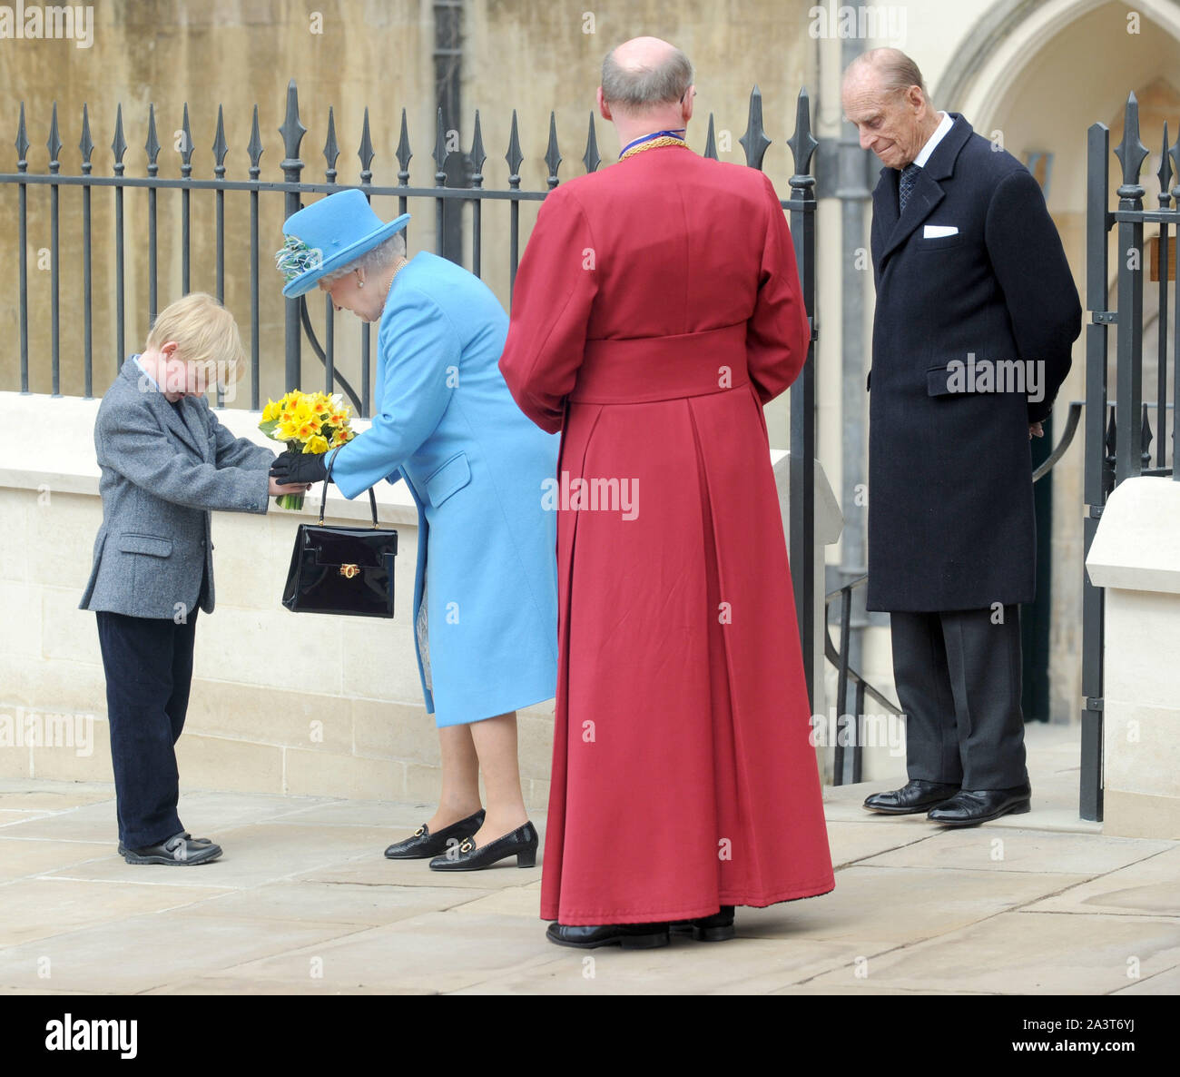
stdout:
POLYGON ((1055 751, 1057 801, 1003 827, 874 816, 864 791, 828 790, 832 894, 648 952, 548 942, 539 863, 385 860, 432 805, 188 794, 185 825, 227 853, 186 870, 124 863, 109 784, 5 779, 0 993, 1175 993, 1180 843, 1047 833, 1054 811, 1076 824, 1055 751))

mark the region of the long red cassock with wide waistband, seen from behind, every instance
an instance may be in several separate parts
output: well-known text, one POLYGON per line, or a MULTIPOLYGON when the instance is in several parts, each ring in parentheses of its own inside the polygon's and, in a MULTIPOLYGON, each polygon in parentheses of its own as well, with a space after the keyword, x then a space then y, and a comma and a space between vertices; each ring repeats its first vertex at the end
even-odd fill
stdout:
POLYGON ((762 415, 807 339, 761 172, 660 146, 545 198, 500 359, 562 431, 542 919, 834 886, 762 415))

